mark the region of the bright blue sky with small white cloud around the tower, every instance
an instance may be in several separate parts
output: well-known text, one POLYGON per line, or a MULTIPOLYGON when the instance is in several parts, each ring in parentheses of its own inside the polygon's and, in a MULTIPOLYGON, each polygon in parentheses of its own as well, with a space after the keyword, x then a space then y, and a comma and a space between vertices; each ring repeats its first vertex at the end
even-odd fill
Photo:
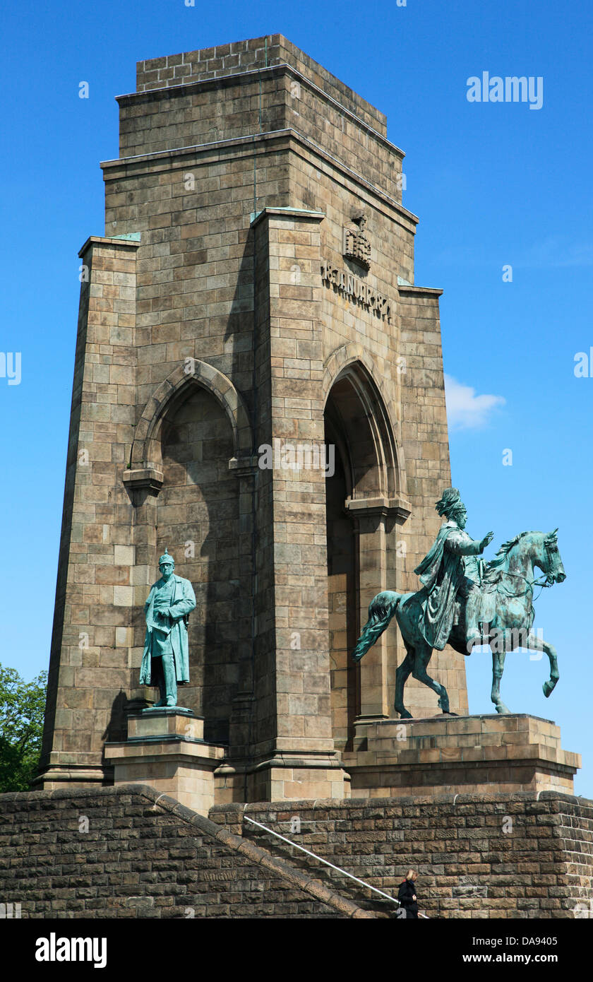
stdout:
MULTIPOLYGON (((104 232, 98 165, 118 152, 114 96, 135 89, 137 60, 279 31, 385 112, 388 136, 406 152, 404 204, 420 217, 416 283, 445 290, 453 478, 468 531, 477 538, 494 529, 491 556, 518 531, 560 526, 567 578, 542 595, 535 626, 557 646, 561 681, 545 699, 545 662, 519 652, 508 656, 503 693, 513 711, 562 726, 566 749, 583 754, 575 790, 593 797, 584 616, 591 609, 593 377, 573 370, 574 356, 593 346, 593 7, 576 0, 332 8, 309 0, 195 0, 193 7, 6 0, 0 18, 0 348, 22 353, 21 383, 0 377, 0 514, 11 584, 0 602, 2 663, 30 678, 48 661, 77 253, 88 235, 104 232), (541 77, 542 108, 468 102, 468 78, 485 71, 541 77), (88 99, 79 98, 82 81, 88 99), (512 282, 503 280, 506 265, 512 282), (488 396, 498 398, 480 398, 488 396), (511 466, 503 464, 508 450, 511 466)), ((475 654, 466 667, 470 711, 491 711, 489 656, 475 654)))

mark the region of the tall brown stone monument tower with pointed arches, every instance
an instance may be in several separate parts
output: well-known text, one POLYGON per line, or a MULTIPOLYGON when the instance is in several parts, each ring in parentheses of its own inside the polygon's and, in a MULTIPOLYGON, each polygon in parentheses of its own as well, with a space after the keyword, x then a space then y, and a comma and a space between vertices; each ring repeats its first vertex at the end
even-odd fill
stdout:
MULTIPOLYGON (((217 799, 344 797, 404 655, 396 627, 350 651, 374 594, 417 587, 451 483, 404 154, 278 34, 139 62, 118 102, 105 236, 80 252, 40 781, 110 782, 104 744, 152 698, 167 547, 197 598, 181 692, 225 748, 217 799)), ((462 658, 431 672, 465 712, 462 658)), ((419 683, 407 700, 437 711, 419 683)))

